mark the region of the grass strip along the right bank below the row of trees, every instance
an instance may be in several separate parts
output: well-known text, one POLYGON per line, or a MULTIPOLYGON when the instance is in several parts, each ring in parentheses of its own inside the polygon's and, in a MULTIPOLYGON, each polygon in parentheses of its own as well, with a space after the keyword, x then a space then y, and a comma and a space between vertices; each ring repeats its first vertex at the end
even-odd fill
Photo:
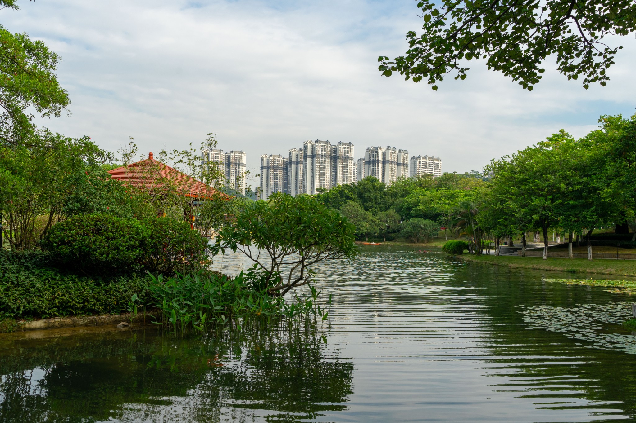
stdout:
POLYGON ((516 268, 560 270, 570 273, 600 273, 604 275, 636 276, 636 260, 612 259, 568 259, 561 257, 511 257, 511 256, 472 256, 462 254, 457 258, 476 263, 510 266, 516 268))

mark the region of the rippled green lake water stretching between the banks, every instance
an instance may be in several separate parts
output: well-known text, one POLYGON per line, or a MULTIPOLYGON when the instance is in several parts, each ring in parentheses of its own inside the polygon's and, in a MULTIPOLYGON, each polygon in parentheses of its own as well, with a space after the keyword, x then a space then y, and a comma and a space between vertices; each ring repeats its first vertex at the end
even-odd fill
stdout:
MULTIPOLYGON (((628 296, 408 246, 362 252, 317 269, 334 298, 323 325, 252 322, 185 339, 152 328, 1 335, 0 421, 634 419, 636 355, 528 329, 520 313, 628 296)), ((243 263, 215 266, 232 274, 243 263)))

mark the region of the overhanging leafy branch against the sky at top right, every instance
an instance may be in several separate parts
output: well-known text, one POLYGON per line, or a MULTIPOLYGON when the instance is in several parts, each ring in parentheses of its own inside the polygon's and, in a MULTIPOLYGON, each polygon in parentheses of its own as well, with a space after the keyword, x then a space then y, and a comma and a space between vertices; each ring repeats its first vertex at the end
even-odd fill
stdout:
POLYGON ((636 30, 633 0, 418 0, 417 7, 422 33, 409 31, 406 54, 380 56, 379 70, 414 82, 427 79, 434 90, 446 74, 466 79, 467 62, 481 59, 530 91, 548 56, 556 56, 558 72, 568 79, 581 77, 583 88, 605 86, 622 46, 609 46, 604 37, 636 30))

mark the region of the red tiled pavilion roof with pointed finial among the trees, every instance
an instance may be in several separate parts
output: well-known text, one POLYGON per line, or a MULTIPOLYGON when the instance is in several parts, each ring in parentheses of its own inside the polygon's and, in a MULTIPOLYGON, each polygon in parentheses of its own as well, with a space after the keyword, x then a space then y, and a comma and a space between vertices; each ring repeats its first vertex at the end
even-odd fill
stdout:
POLYGON ((181 185, 186 197, 212 198, 213 195, 220 194, 222 197, 230 198, 225 193, 221 193, 211 186, 207 186, 197 181, 197 179, 190 178, 183 172, 177 171, 174 167, 153 159, 152 152, 148 153, 148 159, 146 160, 118 167, 108 171, 108 173, 111 174, 113 179, 125 181, 135 188, 153 190, 162 188, 166 183, 174 183, 177 186, 181 185))

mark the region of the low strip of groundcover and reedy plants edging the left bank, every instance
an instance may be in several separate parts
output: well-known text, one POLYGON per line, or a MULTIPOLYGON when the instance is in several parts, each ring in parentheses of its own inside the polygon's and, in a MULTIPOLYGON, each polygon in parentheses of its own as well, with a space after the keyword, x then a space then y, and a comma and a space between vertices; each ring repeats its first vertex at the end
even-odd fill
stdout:
POLYGON ((200 331, 248 315, 290 322, 301 315, 328 318, 328 306, 321 306, 320 292, 313 286, 307 294, 296 294, 288 301, 272 297, 257 288, 263 275, 255 268, 235 277, 200 269, 169 277, 136 273, 99 278, 64 273, 53 267, 46 252, 2 251, 0 273, 0 332, 17 329, 21 321, 134 316, 151 310, 161 312, 152 323, 173 332, 200 331))

